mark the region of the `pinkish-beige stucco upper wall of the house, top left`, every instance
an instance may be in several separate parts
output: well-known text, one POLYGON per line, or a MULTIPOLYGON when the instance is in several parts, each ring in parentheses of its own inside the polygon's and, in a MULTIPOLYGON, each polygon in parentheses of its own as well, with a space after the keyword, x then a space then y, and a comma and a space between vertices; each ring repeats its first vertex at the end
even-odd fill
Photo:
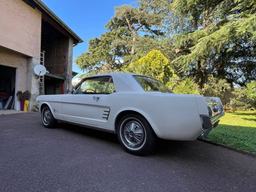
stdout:
POLYGON ((0 46, 40 59, 41 12, 22 0, 0 1, 0 46))

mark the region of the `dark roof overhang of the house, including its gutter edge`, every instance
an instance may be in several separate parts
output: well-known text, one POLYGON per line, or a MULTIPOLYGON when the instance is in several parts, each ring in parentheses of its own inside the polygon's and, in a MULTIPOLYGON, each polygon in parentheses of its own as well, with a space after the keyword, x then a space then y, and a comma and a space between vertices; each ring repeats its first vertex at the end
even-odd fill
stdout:
POLYGON ((30 5, 33 8, 37 8, 42 13, 46 14, 48 17, 50 17, 54 22, 58 23, 60 27, 62 27, 66 32, 70 34, 70 36, 74 40, 74 46, 76 46, 78 43, 84 42, 74 31, 72 31, 57 15, 54 14, 52 10, 49 9, 41 0, 23 0, 28 5, 30 5))

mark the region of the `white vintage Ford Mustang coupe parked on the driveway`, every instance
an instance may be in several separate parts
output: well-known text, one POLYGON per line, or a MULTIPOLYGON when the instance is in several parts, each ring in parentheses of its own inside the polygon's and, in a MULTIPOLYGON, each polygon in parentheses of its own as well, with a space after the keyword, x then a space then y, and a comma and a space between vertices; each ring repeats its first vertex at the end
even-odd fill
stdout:
POLYGON ((151 151, 156 138, 205 137, 224 116, 218 97, 174 94, 160 81, 132 73, 93 75, 65 95, 36 99, 44 127, 64 121, 116 133, 135 155, 151 151))

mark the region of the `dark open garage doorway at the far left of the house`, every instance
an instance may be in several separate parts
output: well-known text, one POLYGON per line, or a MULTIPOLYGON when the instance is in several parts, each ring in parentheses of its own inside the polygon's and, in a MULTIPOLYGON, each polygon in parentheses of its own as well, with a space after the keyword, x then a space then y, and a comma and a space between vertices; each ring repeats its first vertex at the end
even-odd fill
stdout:
POLYGON ((0 65, 0 110, 15 109, 16 68, 0 65))

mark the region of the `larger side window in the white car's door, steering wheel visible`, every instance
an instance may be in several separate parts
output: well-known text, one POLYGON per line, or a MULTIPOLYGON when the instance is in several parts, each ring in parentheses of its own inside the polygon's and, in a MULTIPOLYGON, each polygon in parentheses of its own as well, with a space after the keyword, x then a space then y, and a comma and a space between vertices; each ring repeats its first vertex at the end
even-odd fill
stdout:
POLYGON ((78 87, 76 94, 104 94, 109 80, 110 77, 87 79, 78 87))

